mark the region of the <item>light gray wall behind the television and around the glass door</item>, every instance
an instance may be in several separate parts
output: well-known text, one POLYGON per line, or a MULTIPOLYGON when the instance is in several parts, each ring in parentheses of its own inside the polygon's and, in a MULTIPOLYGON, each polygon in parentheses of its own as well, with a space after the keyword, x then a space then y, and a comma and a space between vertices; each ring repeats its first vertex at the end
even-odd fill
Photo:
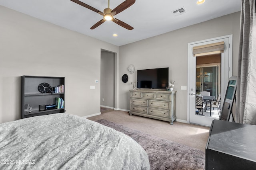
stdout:
POLYGON ((119 107, 130 109, 129 91, 137 71, 147 68, 169 67, 169 80, 176 80, 177 119, 187 120, 188 43, 233 34, 233 76, 237 74, 240 12, 184 27, 162 35, 119 47, 119 74, 128 74, 127 67, 134 64, 134 74, 128 74, 127 83, 119 80, 119 107))

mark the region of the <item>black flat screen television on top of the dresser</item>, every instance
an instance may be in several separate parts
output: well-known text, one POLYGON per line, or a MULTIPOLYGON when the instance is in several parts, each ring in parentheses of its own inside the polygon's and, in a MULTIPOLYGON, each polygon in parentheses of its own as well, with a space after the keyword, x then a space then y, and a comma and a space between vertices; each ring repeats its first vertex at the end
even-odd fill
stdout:
POLYGON ((166 88, 168 81, 168 67, 137 70, 137 88, 166 88))

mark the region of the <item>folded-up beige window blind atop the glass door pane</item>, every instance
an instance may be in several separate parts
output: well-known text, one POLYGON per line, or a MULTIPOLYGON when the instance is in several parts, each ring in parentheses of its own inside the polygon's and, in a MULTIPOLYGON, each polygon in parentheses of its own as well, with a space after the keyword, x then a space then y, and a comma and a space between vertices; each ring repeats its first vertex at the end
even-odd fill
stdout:
POLYGON ((224 53, 224 41, 193 47, 194 57, 224 53))

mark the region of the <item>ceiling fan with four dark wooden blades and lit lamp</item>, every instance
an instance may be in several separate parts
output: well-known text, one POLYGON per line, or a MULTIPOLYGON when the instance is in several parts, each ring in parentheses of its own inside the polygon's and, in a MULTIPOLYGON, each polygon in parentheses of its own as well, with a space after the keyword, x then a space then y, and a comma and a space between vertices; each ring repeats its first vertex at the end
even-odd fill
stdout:
POLYGON ((103 19, 98 21, 97 23, 95 23, 91 29, 94 29, 96 27, 98 27, 99 25, 101 25, 102 23, 104 23, 106 20, 111 20, 113 21, 114 23, 117 23, 118 25, 126 28, 126 29, 129 29, 129 30, 132 30, 133 27, 128 25, 127 23, 124 23, 123 21, 120 21, 118 20, 117 18, 114 18, 114 16, 120 12, 122 12, 123 10, 126 10, 128 7, 130 7, 132 4, 135 3, 135 0, 126 0, 124 2, 122 2, 122 4, 118 5, 114 10, 111 10, 109 8, 109 0, 108 0, 108 8, 105 8, 104 9, 104 12, 101 12, 95 8, 93 8, 92 6, 89 6, 87 4, 85 4, 84 2, 81 2, 79 0, 71 0, 73 2, 75 2, 76 4, 79 4, 81 6, 84 6, 85 8, 88 8, 89 10, 92 10, 94 12, 97 12, 98 14, 102 15, 103 16, 103 19))

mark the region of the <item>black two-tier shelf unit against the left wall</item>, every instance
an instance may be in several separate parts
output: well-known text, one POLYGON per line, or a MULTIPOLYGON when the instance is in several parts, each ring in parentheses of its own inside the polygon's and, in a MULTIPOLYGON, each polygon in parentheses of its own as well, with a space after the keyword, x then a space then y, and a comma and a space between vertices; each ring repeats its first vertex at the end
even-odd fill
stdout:
MULTIPOLYGON (((39 105, 55 104, 55 98, 62 98, 65 101, 64 93, 40 93, 38 85, 46 82, 51 87, 56 87, 65 84, 65 77, 50 77, 50 76, 21 76, 21 118, 27 118, 39 115, 48 115, 53 113, 64 113, 64 108, 49 109, 39 111, 39 105), (32 107, 30 113, 26 113, 26 104, 32 107)), ((65 86, 64 86, 65 88, 65 86)))

